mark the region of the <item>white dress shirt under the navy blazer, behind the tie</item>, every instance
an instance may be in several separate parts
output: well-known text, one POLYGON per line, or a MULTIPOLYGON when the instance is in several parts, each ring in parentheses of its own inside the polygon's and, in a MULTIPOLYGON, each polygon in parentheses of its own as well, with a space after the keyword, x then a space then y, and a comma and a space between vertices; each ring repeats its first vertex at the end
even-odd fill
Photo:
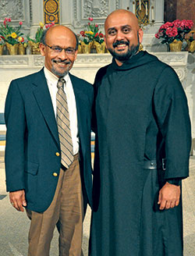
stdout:
MULTIPOLYGON (((58 91, 57 83, 58 77, 55 76, 51 71, 49 71, 44 66, 44 76, 46 77, 48 83, 48 89, 51 95, 51 101, 53 104, 55 117, 56 117, 56 94, 58 91)), ((69 78, 69 74, 63 77, 66 80, 66 86, 64 91, 66 93, 66 98, 69 108, 69 122, 70 122, 70 131, 73 140, 73 155, 76 155, 79 152, 79 137, 78 137, 78 123, 77 123, 77 113, 76 113, 76 100, 73 91, 73 84, 69 78)))

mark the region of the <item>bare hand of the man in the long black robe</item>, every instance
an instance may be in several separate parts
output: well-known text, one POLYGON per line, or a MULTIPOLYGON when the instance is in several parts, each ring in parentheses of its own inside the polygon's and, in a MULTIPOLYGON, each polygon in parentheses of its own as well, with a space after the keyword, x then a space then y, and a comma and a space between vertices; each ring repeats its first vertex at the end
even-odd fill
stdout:
POLYGON ((180 186, 165 183, 159 191, 158 204, 160 210, 174 208, 179 204, 179 197, 181 194, 180 186))

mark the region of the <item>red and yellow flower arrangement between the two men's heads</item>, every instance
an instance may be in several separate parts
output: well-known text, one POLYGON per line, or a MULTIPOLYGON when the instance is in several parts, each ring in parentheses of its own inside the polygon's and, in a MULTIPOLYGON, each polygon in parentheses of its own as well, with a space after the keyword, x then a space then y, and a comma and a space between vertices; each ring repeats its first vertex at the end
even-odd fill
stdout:
MULTIPOLYGON (((89 17, 88 20, 91 22, 94 19, 89 17)), ((89 44, 90 42, 96 41, 99 44, 102 44, 104 42, 104 34, 99 31, 97 24, 92 24, 90 22, 87 24, 87 30, 80 31, 80 34, 83 37, 83 42, 89 44)))

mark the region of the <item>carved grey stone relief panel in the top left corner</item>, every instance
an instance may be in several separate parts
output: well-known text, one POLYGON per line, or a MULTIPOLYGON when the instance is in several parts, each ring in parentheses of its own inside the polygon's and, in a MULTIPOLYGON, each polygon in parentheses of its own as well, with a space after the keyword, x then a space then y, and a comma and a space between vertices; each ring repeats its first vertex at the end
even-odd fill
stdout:
POLYGON ((1 0, 0 1, 1 21, 9 17, 12 21, 24 20, 24 2, 23 0, 1 0))

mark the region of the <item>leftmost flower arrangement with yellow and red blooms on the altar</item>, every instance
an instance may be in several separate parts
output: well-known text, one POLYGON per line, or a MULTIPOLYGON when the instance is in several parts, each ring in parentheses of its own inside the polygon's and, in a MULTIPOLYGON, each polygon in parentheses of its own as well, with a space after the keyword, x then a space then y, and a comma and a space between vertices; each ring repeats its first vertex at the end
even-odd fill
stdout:
POLYGON ((18 44, 21 40, 21 36, 23 33, 20 31, 23 22, 20 21, 18 27, 12 27, 9 23, 11 23, 11 18, 5 18, 3 24, 0 27, 0 37, 3 41, 9 44, 18 44))

